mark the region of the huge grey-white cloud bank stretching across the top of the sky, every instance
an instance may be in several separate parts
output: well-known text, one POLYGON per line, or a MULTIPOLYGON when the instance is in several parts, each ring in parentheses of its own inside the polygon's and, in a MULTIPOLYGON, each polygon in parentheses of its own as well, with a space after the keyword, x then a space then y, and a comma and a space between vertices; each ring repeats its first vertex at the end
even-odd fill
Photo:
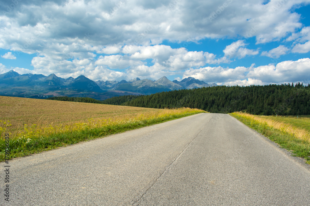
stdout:
POLYGON ((73 44, 74 40, 91 51, 97 47, 98 53, 117 54, 122 45, 155 45, 163 40, 256 36, 257 43, 266 43, 301 27, 300 15, 290 9, 303 2, 309 0, 265 5, 255 0, 171 0, 152 1, 151 7, 135 0, 22 1, 11 15, 0 16, 0 47, 33 54, 53 42, 73 44), (212 14, 216 18, 210 21, 212 14))

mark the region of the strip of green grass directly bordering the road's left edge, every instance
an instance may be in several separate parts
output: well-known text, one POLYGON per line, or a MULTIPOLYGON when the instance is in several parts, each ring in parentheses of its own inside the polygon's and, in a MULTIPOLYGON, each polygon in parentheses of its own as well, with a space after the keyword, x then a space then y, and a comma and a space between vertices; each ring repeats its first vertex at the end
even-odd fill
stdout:
MULTIPOLYGON (((23 157, 29 154, 51 150, 54 148, 75 144, 78 142, 96 139, 107 135, 121 133, 128 130, 137 129, 140 127, 150 126, 177 118, 190 116, 201 113, 202 111, 190 111, 181 114, 170 114, 166 116, 157 116, 155 118, 148 118, 142 120, 128 120, 125 122, 112 122, 104 127, 91 126, 82 127, 82 129, 56 132, 49 136, 39 136, 38 138, 12 138, 9 141, 10 159, 15 157, 23 157)), ((27 137, 28 138, 28 137, 27 137)), ((5 158, 5 141, 0 139, 0 161, 5 158)))

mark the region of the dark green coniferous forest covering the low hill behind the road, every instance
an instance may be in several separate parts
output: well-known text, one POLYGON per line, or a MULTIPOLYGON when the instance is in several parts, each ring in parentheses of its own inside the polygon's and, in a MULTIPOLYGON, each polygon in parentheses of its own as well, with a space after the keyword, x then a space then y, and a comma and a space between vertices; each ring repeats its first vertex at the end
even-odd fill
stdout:
POLYGON ((263 115, 310 114, 310 85, 215 86, 174 90, 146 96, 112 97, 104 104, 149 108, 189 107, 211 113, 246 111, 263 115))

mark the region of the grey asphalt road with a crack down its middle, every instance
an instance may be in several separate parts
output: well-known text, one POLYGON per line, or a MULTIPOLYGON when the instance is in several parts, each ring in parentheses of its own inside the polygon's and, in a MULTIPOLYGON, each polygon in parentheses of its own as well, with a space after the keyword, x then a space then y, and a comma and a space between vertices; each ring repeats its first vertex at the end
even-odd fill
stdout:
POLYGON ((10 201, 2 172, 0 205, 310 205, 309 167, 227 114, 197 114, 9 165, 10 201))

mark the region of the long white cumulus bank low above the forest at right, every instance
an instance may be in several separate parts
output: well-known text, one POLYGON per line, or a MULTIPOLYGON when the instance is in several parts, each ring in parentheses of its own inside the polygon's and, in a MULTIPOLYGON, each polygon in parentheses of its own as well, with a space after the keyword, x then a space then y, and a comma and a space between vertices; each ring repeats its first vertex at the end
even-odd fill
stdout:
POLYGON ((251 84, 281 84, 290 82, 310 82, 310 59, 283 61, 277 65, 255 67, 203 67, 189 69, 183 78, 194 77, 206 82, 216 82, 219 85, 251 85, 251 84))

